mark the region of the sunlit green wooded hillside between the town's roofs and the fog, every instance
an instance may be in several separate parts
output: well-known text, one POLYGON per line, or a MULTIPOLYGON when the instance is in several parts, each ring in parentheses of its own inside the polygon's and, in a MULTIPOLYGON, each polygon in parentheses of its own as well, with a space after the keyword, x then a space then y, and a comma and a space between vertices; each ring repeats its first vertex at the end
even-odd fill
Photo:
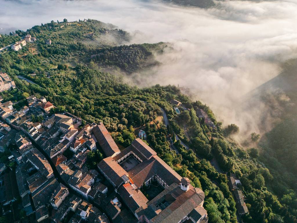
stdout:
POLYGON ((147 142, 158 156, 203 189, 210 223, 237 222, 236 203, 227 185, 230 173, 241 180, 247 198, 249 214, 244 217, 245 222, 296 223, 295 192, 285 187, 277 193, 271 187, 278 181, 277 172, 270 172, 259 162, 259 151, 245 150, 226 138, 236 132, 236 125, 223 129, 208 106, 191 101, 176 86, 129 86, 121 76, 102 71, 105 66, 127 73, 149 68, 158 64, 152 52, 162 53, 166 47, 164 43, 121 45, 129 39, 129 34, 114 28, 94 20, 71 24, 67 20, 52 21, 34 26, 27 33, 37 37, 36 43, 0 56, 1 71, 8 73, 19 89, 0 95, 5 101, 20 101, 20 105, 26 104, 28 94, 45 96, 57 106, 57 111, 68 111, 89 122, 103 121, 121 148, 131 144, 139 129, 145 130, 147 142), (47 39, 52 41, 51 45, 45 45, 47 39), (94 54, 97 55, 91 59, 94 54), (173 98, 185 106, 179 115, 169 103, 173 98), (174 143, 179 153, 171 149, 161 108, 168 116, 170 133, 177 134, 189 149, 180 140, 174 143), (207 112, 216 127, 209 127, 197 116, 198 108, 207 112), (189 126, 189 139, 184 137, 183 123, 189 126), (223 173, 211 165, 212 158, 223 173))

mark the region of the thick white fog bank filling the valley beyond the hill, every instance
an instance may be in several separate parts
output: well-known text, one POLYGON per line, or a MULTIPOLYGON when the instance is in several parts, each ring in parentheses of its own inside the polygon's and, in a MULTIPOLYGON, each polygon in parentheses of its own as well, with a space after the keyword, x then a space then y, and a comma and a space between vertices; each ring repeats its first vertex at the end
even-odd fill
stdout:
POLYGON ((255 103, 249 111, 243 106, 249 92, 277 76, 281 62, 297 57, 297 1, 292 0, 219 1, 211 9, 137 0, 1 1, 0 32, 63 18, 113 23, 133 34, 132 43, 172 43, 174 50, 157 55, 162 65, 153 77, 134 74, 129 80, 189 88, 192 99, 207 103, 224 124, 236 123, 245 134, 268 128, 259 125, 265 104, 255 103))

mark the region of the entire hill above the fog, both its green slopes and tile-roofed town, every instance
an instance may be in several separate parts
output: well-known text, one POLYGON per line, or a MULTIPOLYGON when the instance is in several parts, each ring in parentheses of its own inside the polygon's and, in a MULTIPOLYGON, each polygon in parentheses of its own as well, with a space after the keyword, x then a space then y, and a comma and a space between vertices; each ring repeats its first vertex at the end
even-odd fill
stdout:
POLYGON ((3 222, 294 222, 235 124, 182 87, 126 84, 170 50, 129 37, 91 19, 0 37, 3 222))

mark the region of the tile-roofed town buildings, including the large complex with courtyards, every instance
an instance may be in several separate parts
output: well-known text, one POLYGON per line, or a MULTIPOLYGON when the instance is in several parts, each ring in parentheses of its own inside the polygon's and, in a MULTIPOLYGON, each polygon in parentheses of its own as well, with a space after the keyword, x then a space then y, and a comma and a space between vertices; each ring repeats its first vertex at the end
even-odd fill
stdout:
POLYGON ((0 105, 0 151, 9 150, 8 159, 17 164, 2 176, 5 186, 0 177, 4 214, 20 197, 37 222, 208 222, 204 192, 142 139, 120 150, 103 123, 51 114, 55 107, 44 97, 26 99, 28 106, 18 111, 10 101, 0 105), (105 158, 97 170, 89 169, 88 154, 97 149, 105 158), (140 189, 152 183, 163 189, 148 200, 140 189))

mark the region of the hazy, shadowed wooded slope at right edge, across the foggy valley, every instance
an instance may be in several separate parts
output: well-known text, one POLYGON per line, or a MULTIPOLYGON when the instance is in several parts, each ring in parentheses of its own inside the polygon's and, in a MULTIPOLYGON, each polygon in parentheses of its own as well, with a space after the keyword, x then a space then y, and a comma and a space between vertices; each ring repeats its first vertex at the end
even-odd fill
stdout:
POLYGON ((259 158, 274 176, 275 180, 269 184, 269 188, 289 210, 297 207, 296 68, 297 60, 288 60, 283 65, 282 73, 259 87, 255 93, 261 95, 263 103, 277 111, 273 116, 277 120, 274 127, 260 140, 259 158))

